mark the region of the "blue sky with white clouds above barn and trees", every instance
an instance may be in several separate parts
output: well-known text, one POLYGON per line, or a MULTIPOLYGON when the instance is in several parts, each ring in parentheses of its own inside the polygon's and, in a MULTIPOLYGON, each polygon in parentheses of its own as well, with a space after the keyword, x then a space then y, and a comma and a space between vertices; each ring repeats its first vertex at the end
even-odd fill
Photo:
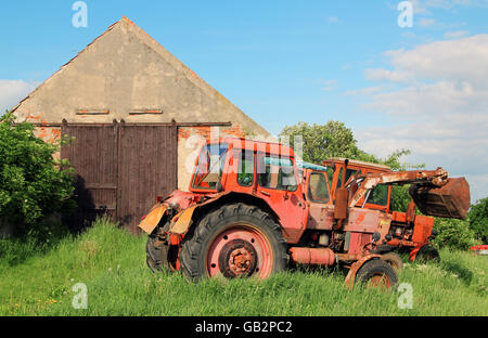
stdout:
POLYGON ((364 150, 410 148, 488 195, 488 0, 411 1, 411 28, 400 1, 87 0, 87 28, 74 2, 0 4, 2 110, 126 15, 274 134, 341 120, 364 150))

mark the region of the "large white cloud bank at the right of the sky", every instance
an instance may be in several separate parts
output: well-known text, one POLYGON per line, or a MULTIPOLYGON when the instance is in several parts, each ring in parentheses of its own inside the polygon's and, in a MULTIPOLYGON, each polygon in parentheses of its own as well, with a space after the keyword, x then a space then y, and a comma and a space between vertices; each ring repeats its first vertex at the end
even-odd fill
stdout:
POLYGON ((382 82, 381 91, 363 92, 370 98, 364 107, 396 125, 356 130, 360 146, 378 156, 409 148, 410 162, 465 176, 472 202, 488 196, 488 35, 385 56, 393 69, 364 72, 382 82))

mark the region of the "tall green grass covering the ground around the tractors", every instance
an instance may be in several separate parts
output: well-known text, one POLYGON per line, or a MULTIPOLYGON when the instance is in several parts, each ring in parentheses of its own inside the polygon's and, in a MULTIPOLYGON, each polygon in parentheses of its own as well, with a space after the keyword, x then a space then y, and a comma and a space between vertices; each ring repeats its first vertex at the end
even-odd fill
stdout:
POLYGON ((406 263, 399 278, 413 287, 413 309, 399 309, 399 292, 348 290, 343 273, 326 270, 200 284, 152 274, 144 245, 99 221, 39 255, 0 257, 0 315, 488 315, 488 257, 467 252, 441 250, 438 265, 406 263), (72 306, 76 283, 88 286, 87 309, 72 306))

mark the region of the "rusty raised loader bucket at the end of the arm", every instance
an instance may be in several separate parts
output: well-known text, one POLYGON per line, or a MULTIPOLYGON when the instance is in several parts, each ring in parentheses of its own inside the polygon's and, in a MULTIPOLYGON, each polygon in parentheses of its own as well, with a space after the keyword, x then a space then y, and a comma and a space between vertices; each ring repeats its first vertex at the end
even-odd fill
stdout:
POLYGON ((465 219, 471 206, 470 185, 464 178, 448 179, 441 187, 412 184, 409 194, 426 216, 465 219))

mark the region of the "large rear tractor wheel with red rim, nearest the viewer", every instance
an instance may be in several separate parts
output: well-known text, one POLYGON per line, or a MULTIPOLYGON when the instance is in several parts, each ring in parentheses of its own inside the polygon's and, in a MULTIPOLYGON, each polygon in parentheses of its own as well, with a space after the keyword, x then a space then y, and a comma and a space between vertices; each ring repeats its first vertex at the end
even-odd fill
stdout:
POLYGON ((222 275, 258 276, 286 268, 286 240, 280 225, 265 211, 242 203, 224 205, 187 234, 181 271, 192 281, 222 275))

